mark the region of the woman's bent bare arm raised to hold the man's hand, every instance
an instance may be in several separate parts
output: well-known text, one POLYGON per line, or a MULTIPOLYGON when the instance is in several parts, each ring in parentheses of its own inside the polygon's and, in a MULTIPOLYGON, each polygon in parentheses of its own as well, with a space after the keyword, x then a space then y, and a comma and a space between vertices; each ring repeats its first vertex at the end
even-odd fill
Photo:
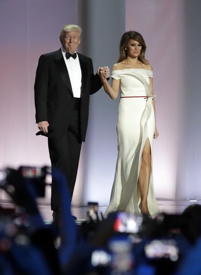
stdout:
MULTIPOLYGON (((113 66, 114 69, 114 66, 113 66)), ((104 90, 107 92, 107 94, 112 98, 116 99, 118 97, 119 93, 119 87, 120 87, 120 79, 112 79, 112 87, 108 83, 107 79, 104 77, 104 68, 103 70, 98 70, 98 75, 100 77, 100 80, 102 81, 102 84, 104 86, 104 90)))

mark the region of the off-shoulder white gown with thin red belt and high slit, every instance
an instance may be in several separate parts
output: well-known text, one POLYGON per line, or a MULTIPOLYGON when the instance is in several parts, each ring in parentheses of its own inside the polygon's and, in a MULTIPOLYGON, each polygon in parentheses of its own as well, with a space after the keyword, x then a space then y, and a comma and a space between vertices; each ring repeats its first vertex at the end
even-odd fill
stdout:
POLYGON ((152 105, 153 95, 149 87, 149 78, 153 78, 153 71, 147 69, 116 70, 112 72, 112 78, 121 79, 121 99, 117 122, 118 159, 110 204, 105 215, 112 211, 141 213, 138 178, 142 151, 147 138, 151 146, 148 209, 151 215, 155 215, 159 212, 152 176, 155 117, 152 105))

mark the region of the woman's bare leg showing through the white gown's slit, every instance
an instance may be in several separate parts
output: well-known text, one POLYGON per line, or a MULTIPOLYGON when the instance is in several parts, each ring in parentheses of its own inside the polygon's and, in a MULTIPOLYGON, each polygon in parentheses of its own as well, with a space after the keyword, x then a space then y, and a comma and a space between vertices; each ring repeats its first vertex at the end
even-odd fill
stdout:
POLYGON ((150 215, 147 206, 147 197, 149 192, 149 181, 151 176, 151 147, 149 139, 147 138, 145 146, 142 152, 142 161, 138 184, 140 187, 140 198, 141 198, 141 212, 142 214, 150 215))

